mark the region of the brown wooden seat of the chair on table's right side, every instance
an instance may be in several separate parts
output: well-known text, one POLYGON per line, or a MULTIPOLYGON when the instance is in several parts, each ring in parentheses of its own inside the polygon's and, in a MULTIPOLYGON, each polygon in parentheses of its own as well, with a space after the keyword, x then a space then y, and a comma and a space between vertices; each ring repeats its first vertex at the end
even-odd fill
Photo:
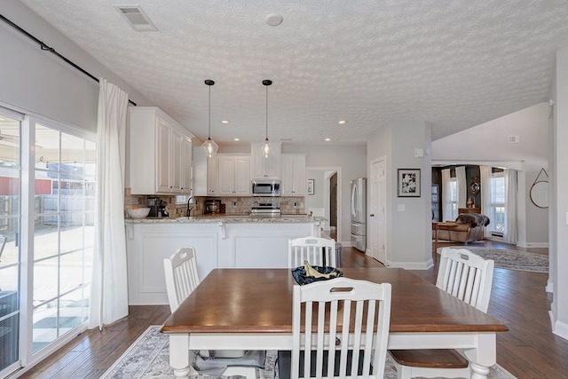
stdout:
POLYGON ((468 359, 454 349, 390 350, 390 356, 398 364, 410 367, 462 368, 468 367, 468 359))

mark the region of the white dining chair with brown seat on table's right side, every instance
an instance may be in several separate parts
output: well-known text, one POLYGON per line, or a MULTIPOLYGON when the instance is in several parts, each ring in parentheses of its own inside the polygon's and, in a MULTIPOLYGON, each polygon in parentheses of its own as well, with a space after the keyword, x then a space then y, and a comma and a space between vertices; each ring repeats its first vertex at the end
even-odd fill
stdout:
MULTIPOLYGON (((467 249, 442 249, 436 286, 487 312, 494 262, 467 249)), ((454 349, 390 350, 398 379, 471 376, 468 359, 454 349)))

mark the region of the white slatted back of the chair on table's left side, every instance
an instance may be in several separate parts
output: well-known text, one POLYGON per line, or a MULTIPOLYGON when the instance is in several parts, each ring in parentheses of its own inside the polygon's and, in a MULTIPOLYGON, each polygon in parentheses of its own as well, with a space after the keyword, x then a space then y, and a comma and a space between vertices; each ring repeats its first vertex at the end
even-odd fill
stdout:
POLYGON ((168 301, 173 313, 200 283, 195 249, 182 248, 163 260, 168 301))

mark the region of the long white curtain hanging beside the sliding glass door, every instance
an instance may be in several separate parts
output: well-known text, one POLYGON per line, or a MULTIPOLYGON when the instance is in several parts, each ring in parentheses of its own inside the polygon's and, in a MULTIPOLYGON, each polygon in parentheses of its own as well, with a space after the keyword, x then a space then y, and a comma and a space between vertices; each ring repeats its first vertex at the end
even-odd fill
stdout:
POLYGON ((124 233, 124 156, 128 94, 100 78, 95 251, 89 328, 128 315, 124 233))

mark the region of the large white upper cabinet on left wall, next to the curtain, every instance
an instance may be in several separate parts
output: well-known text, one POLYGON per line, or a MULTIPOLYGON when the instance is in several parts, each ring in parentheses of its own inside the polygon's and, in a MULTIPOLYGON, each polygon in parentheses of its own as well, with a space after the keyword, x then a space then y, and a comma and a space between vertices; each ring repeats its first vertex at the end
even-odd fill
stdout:
POLYGON ((191 193, 193 135, 157 107, 129 107, 130 193, 191 193))

